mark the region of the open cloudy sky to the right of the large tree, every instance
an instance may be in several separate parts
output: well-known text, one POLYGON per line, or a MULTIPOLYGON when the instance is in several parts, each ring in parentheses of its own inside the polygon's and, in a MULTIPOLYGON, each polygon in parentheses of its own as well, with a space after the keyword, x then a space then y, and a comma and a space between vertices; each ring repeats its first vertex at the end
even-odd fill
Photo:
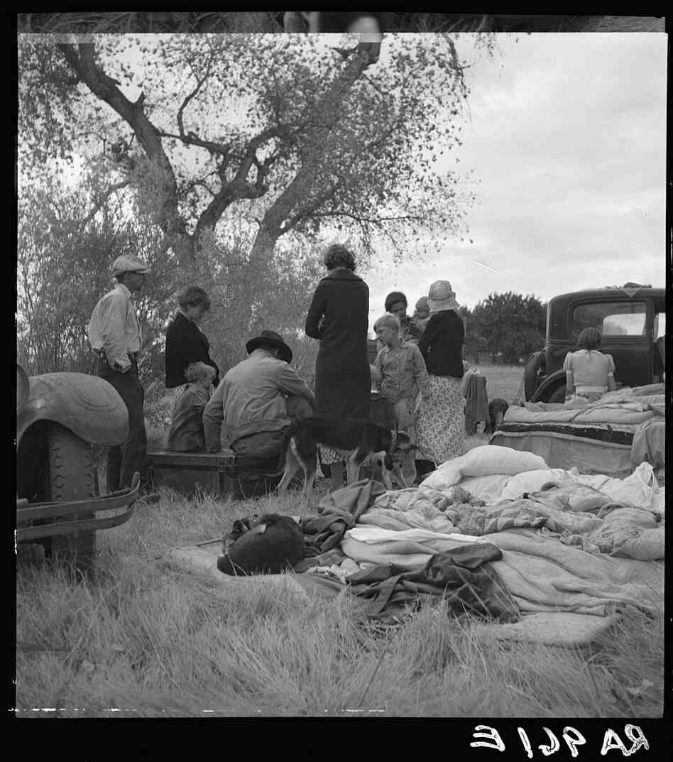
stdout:
POLYGON ((470 308, 493 291, 665 285, 666 35, 499 34, 498 46, 467 72, 454 165, 480 180, 473 243, 363 273, 371 322, 389 291, 413 312, 439 279, 470 308))

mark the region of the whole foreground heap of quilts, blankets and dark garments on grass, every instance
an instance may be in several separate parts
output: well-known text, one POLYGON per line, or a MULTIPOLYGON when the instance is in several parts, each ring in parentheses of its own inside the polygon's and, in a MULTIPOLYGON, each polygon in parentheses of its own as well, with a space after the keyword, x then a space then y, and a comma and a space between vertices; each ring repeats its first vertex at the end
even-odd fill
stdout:
MULTIPOLYGON (((616 479, 486 445, 416 488, 363 479, 331 492, 297 517, 307 550, 294 571, 256 579, 298 594, 350 592, 377 620, 441 597, 497 638, 578 645, 630 607, 662 610, 664 506, 649 463, 616 479)), ((203 548, 169 555, 214 565, 203 548)))

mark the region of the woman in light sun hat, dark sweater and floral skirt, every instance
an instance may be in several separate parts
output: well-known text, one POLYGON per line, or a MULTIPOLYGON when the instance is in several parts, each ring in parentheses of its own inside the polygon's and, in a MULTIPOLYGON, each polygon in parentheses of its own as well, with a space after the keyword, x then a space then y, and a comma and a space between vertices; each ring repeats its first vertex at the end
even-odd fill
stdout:
MULTIPOLYGON (((416 420, 416 456, 435 466, 463 454, 463 342, 465 329, 448 280, 432 283, 430 319, 418 347, 426 360, 430 391, 416 420)), ((427 470, 427 469, 423 469, 427 470)))

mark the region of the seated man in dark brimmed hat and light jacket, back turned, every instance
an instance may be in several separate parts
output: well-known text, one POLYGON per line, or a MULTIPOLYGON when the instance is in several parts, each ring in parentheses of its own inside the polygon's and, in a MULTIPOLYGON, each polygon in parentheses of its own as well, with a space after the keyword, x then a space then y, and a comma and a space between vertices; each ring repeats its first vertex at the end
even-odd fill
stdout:
POLYGON ((262 331, 245 350, 248 357, 228 371, 203 411, 206 451, 222 450, 224 426, 234 453, 270 458, 280 453, 285 426, 313 415, 314 397, 275 331, 262 331))

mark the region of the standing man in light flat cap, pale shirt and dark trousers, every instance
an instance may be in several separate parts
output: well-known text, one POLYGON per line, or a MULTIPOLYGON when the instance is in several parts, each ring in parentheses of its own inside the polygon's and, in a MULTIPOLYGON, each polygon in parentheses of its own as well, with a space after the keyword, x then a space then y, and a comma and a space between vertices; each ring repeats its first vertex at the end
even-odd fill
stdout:
POLYGON ((112 265, 116 286, 94 307, 89 322, 89 342, 97 355, 97 374, 112 384, 129 410, 129 437, 107 454, 107 490, 125 489, 133 473, 145 479, 145 390, 138 377, 142 334, 133 294, 139 293, 150 272, 136 255, 117 257, 112 265))

